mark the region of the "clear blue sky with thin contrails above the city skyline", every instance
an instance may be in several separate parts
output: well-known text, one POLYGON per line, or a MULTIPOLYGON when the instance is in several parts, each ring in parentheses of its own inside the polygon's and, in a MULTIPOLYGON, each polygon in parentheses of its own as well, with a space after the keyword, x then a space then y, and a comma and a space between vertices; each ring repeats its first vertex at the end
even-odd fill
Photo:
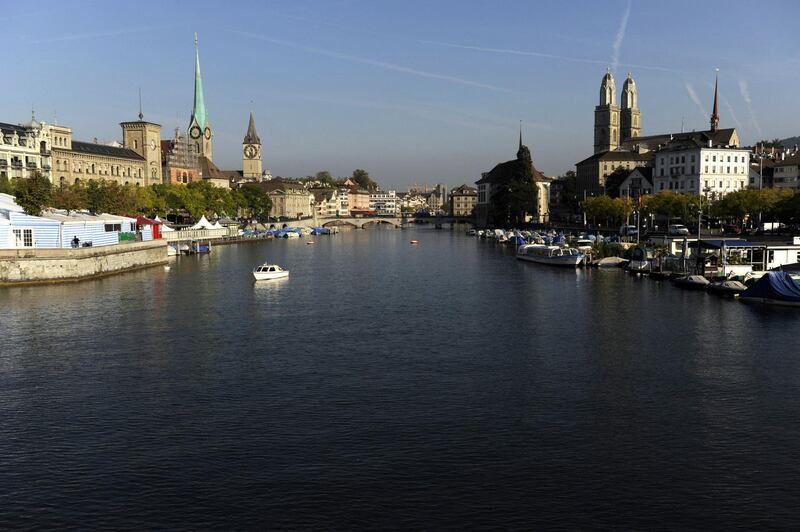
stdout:
POLYGON ((363 168, 384 189, 472 183, 514 158, 574 170, 610 68, 636 81, 642 135, 720 126, 800 135, 800 2, 650 0, 42 1, 4 8, 0 121, 121 140, 189 124, 194 32, 214 161, 241 169, 249 112, 273 175, 363 168))

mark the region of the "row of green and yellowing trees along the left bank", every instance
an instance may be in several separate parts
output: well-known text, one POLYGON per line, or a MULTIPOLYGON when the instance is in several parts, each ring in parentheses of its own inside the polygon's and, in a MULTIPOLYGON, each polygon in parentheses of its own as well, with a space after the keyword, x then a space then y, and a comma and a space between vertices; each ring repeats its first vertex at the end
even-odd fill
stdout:
POLYGON ((121 216, 188 216, 194 220, 229 217, 266 221, 272 201, 261 187, 248 183, 237 189, 215 187, 208 181, 187 185, 156 184, 148 187, 91 180, 74 185, 53 186, 41 174, 9 181, 0 178, 0 192, 16 196, 26 214, 37 216, 47 207, 92 214, 121 216))

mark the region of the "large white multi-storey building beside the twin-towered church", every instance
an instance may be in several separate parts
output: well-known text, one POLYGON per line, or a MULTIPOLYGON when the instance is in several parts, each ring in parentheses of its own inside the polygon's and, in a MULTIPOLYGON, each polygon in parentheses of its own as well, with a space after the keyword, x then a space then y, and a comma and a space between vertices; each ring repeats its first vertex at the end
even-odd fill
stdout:
POLYGON ((681 194, 703 194, 720 198, 747 188, 750 181, 750 152, 742 148, 714 145, 699 133, 676 139, 655 155, 653 188, 681 194))

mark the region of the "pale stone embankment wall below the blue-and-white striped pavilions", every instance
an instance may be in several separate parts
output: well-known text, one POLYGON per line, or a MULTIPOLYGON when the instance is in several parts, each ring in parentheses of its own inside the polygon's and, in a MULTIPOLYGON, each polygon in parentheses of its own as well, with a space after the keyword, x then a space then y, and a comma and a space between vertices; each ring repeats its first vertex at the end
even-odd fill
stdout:
POLYGON ((80 281, 167 263, 163 240, 78 249, 2 249, 0 285, 80 281))

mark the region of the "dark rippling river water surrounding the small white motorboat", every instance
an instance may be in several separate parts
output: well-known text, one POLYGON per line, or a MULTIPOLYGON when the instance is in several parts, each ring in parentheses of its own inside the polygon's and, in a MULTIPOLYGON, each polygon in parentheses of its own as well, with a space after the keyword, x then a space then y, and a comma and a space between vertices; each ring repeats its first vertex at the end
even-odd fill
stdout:
POLYGON ((797 528, 800 313, 316 241, 0 288, 0 528, 797 528))

